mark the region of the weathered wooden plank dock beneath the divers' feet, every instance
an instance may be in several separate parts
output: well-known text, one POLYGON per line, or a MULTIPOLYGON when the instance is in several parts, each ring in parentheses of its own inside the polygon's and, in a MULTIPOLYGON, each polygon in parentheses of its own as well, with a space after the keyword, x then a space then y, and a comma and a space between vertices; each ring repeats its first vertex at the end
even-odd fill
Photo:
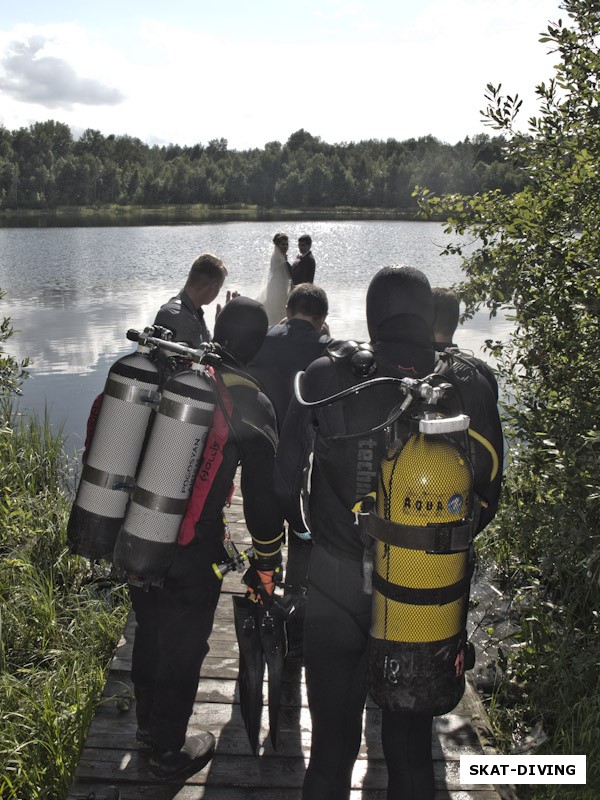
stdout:
MULTIPOLYGON (((232 538, 249 539, 241 500, 229 510, 232 538)), ((130 617, 112 661, 104 696, 90 727, 68 800, 300 800, 310 749, 310 715, 302 667, 286 664, 278 748, 268 740, 252 755, 240 714, 237 688, 238 652, 233 627, 232 594, 242 593, 239 575, 228 575, 204 662, 188 735, 210 730, 217 738, 212 761, 186 781, 165 782, 147 770, 146 752, 135 743, 136 718, 130 678, 134 620, 130 617)), ((265 695, 266 703, 266 695, 265 695)), ((363 742, 353 773, 352 800, 385 800, 386 768, 380 741, 379 709, 365 710, 363 742)), ((468 683, 465 697, 451 714, 435 720, 436 800, 515 800, 510 787, 461 785, 459 758, 493 752, 487 717, 477 692, 468 683)))

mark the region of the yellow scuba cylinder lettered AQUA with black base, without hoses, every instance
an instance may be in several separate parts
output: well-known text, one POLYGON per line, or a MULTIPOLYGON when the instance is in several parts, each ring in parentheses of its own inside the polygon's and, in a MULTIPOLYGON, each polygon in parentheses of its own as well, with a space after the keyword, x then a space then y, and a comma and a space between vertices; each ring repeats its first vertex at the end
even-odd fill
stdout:
POLYGON ((445 714, 464 691, 473 469, 448 433, 468 426, 422 419, 379 467, 368 680, 384 708, 445 714))

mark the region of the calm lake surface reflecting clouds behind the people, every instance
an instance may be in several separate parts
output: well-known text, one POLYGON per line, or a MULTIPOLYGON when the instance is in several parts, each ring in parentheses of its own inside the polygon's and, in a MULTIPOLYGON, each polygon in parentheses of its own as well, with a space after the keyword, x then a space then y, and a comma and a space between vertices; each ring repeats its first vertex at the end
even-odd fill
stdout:
MULTIPOLYGON (((94 397, 111 364, 133 349, 128 328, 150 325, 183 286, 194 259, 211 252, 229 277, 226 289, 253 297, 268 267, 278 230, 290 237, 290 261, 301 233, 313 239, 315 281, 327 292, 336 338, 366 339, 365 292, 383 266, 404 263, 426 273, 432 286, 460 280, 460 259, 441 257, 447 237, 432 222, 225 222, 113 228, 0 228, 0 315, 18 333, 7 350, 29 357, 31 377, 19 408, 64 425, 67 448, 79 449, 94 397)), ((459 328, 457 343, 483 356, 487 338, 506 338, 508 324, 477 315, 459 328)))

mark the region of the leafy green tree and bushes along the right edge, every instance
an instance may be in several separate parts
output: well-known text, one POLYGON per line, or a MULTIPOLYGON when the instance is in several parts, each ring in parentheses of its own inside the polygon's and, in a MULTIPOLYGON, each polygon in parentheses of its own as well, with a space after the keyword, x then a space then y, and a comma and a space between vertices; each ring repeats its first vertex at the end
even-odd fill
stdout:
MULTIPOLYGON (((486 95, 484 117, 507 136, 506 157, 525 188, 418 194, 426 214, 446 215, 449 231, 476 240, 460 287, 467 315, 483 304, 514 317, 509 344, 496 348, 511 403, 492 544, 527 602, 502 713, 514 729, 514 704, 523 724, 541 725, 545 752, 587 753, 587 789, 577 797, 592 798, 600 788, 600 3, 562 8, 569 19, 541 38, 560 61, 536 89, 539 113, 526 131, 516 127, 518 95, 493 85, 486 95)), ((569 796, 557 788, 535 796, 569 796)))

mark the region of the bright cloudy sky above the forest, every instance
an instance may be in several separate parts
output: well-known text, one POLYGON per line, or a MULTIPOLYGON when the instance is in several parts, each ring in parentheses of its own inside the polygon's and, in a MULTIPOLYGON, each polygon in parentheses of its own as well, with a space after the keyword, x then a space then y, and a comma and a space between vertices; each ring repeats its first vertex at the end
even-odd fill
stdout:
POLYGON ((229 149, 495 132, 488 83, 538 110, 559 0, 0 0, 0 125, 53 119, 229 149))

